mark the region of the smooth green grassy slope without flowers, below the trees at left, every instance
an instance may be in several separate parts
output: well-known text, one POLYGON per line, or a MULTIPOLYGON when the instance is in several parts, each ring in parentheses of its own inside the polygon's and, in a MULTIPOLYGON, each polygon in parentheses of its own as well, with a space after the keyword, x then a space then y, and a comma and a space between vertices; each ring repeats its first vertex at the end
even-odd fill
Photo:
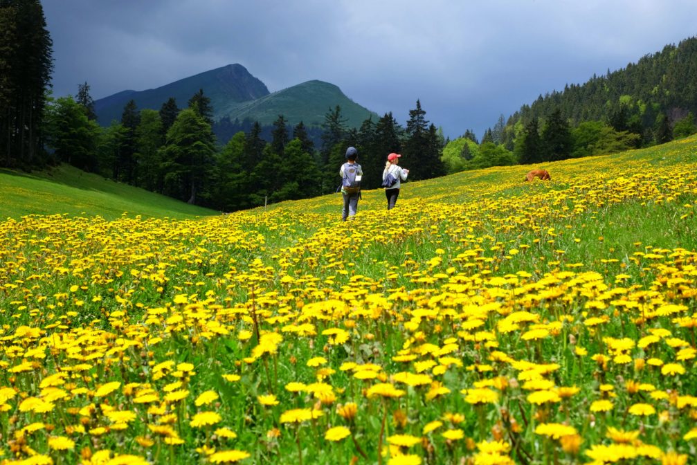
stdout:
POLYGON ((115 183, 70 165, 32 174, 0 169, 0 219, 22 215, 100 215, 198 218, 217 212, 185 204, 130 185, 115 183))

